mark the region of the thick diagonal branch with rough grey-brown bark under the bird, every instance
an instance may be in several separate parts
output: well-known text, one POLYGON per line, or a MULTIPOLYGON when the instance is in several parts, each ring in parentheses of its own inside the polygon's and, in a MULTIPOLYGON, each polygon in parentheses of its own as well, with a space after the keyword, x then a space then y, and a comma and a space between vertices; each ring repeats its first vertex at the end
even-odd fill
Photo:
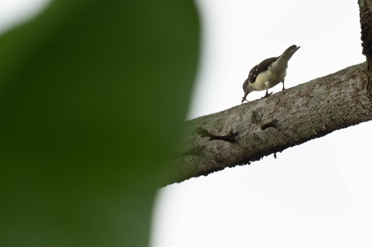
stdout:
POLYGON ((366 63, 187 121, 173 182, 249 164, 372 119, 366 63))

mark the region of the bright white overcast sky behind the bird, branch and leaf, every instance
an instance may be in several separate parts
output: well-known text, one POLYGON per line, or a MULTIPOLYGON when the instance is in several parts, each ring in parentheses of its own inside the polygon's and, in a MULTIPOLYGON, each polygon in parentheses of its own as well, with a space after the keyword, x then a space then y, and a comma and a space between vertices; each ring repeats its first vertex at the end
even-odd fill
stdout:
MULTIPOLYGON (((0 0, 0 34, 48 2, 0 0)), ((202 51, 189 118, 240 104, 250 69, 290 45, 301 48, 289 61, 286 88, 365 61, 356 1, 196 2, 202 51)), ((151 247, 371 246, 371 127, 159 190, 151 247)))

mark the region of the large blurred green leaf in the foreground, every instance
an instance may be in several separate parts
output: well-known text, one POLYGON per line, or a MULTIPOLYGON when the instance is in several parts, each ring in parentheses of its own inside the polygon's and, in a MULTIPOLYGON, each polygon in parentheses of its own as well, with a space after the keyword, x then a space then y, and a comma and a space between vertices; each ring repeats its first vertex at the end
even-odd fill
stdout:
POLYGON ((198 42, 171 0, 55 0, 0 37, 1 246, 148 244, 198 42))

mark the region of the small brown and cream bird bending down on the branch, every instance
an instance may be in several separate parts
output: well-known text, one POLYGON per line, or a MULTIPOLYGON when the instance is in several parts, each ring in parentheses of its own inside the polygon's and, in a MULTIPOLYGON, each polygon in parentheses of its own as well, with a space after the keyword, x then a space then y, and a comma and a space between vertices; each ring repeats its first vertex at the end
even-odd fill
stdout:
POLYGON ((284 90, 284 78, 287 75, 288 61, 300 47, 296 45, 289 46, 279 57, 270 57, 254 66, 243 83, 244 97, 241 103, 247 101, 247 95, 252 91, 266 89, 266 94, 263 98, 272 95, 273 92, 268 93, 267 90, 280 82, 283 83, 282 90, 284 90))

